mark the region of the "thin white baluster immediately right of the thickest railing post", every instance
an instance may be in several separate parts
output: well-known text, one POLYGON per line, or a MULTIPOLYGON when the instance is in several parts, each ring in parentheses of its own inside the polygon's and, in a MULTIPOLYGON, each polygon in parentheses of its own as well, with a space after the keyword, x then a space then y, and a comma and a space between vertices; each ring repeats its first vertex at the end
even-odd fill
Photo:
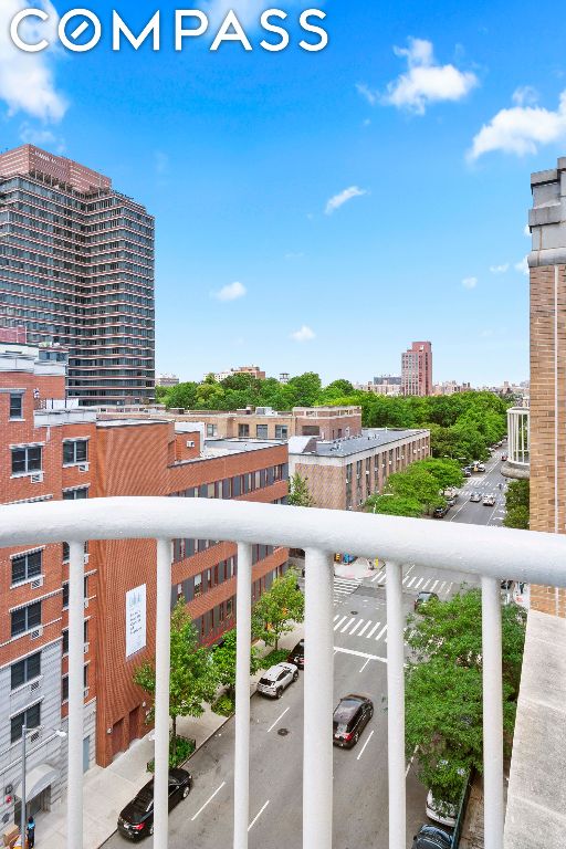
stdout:
POLYGON ((405 849, 405 615, 402 568, 396 563, 387 564, 386 593, 389 849, 405 849))

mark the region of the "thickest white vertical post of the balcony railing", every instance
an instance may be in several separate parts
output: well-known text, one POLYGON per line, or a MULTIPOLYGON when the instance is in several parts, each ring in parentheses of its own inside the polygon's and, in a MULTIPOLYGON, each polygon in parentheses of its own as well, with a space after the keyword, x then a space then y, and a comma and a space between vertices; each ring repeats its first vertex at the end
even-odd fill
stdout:
POLYGON ((306 551, 303 748, 303 849, 332 849, 332 556, 306 551))

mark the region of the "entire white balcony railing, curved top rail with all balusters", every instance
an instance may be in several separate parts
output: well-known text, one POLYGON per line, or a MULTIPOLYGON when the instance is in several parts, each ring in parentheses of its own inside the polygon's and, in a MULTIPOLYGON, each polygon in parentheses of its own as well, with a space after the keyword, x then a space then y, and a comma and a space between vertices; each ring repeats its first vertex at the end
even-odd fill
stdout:
POLYGON ((503 847, 500 579, 566 586, 566 536, 423 520, 205 499, 93 499, 0 507, 0 547, 70 542, 67 849, 83 836, 83 612, 87 539, 157 539, 154 846, 167 849, 171 539, 238 542, 234 849, 249 825, 251 545, 304 548, 303 847, 331 849, 333 805, 333 553, 387 563, 389 847, 406 848, 402 566, 481 576, 485 849, 503 847))

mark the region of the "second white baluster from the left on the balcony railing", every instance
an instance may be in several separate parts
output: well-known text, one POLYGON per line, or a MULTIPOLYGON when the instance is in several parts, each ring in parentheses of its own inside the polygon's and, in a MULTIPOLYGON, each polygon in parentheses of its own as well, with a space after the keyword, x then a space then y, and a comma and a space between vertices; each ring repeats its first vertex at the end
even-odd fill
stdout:
POLYGON ((171 544, 157 541, 157 601, 155 631, 155 773, 154 846, 168 846, 169 677, 171 628, 171 544))

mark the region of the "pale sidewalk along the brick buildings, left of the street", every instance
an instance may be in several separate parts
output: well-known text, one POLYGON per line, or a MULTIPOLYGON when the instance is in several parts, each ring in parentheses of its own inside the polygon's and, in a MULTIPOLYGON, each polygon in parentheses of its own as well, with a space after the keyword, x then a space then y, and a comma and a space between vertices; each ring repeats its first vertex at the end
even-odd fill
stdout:
MULTIPOLYGON (((302 625, 280 641, 281 648, 292 649, 303 636, 302 625)), ((269 653, 260 643, 262 654, 269 653)), ((261 673, 252 677, 250 693, 255 691, 255 684, 261 673)), ((177 722, 181 736, 193 737, 197 748, 227 722, 224 716, 218 716, 207 706, 198 720, 181 716, 177 722)), ((103 768, 94 766, 84 775, 83 780, 83 849, 98 849, 116 830, 116 821, 122 808, 130 801, 140 787, 149 780, 146 763, 154 756, 154 742, 146 734, 142 740, 132 744, 127 752, 118 755, 111 766, 103 768)), ((54 805, 49 813, 35 815, 38 849, 65 849, 66 847, 66 799, 54 805)))

